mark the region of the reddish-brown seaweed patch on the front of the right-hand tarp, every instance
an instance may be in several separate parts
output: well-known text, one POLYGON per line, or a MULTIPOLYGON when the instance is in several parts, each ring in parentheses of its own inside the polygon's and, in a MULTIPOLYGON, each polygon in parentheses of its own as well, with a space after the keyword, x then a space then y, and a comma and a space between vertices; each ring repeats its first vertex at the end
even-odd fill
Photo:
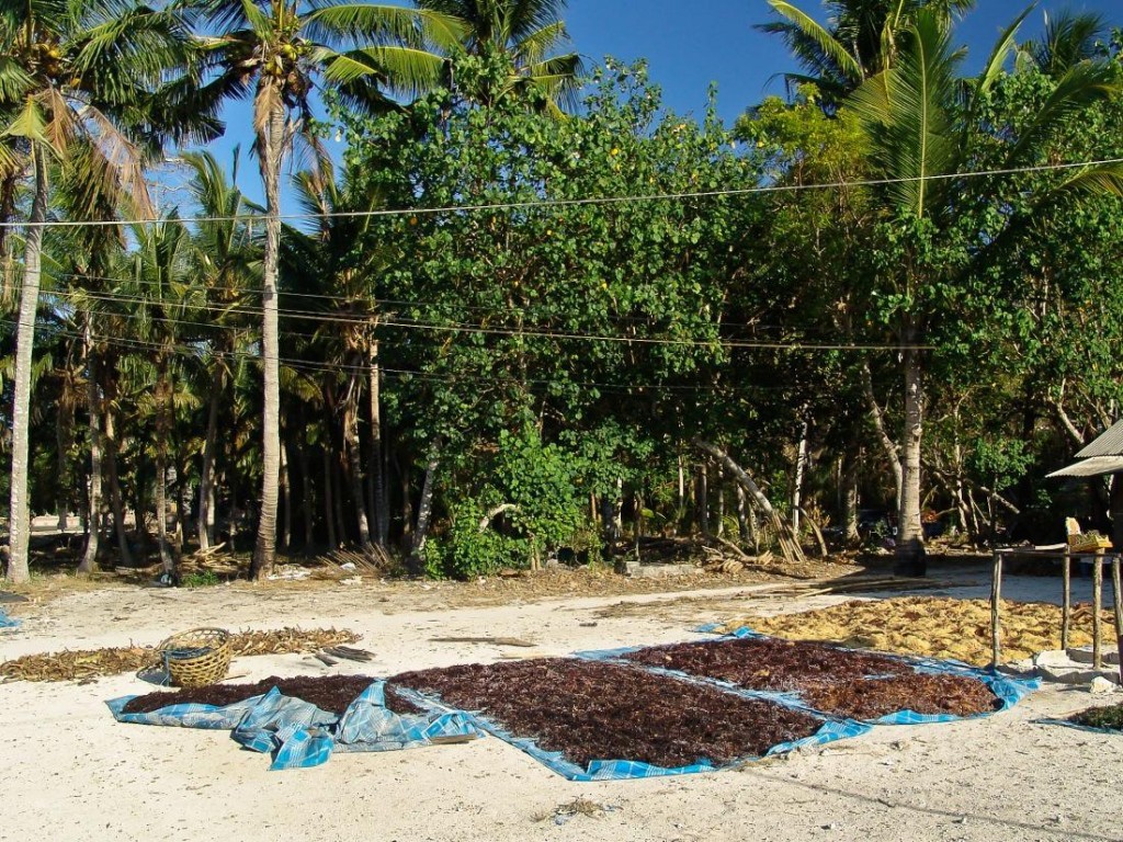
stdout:
POLYGON ((802 695, 816 711, 852 720, 878 720, 906 710, 926 715, 975 716, 994 713, 1002 705, 982 681, 929 674, 856 678, 810 687, 802 695))

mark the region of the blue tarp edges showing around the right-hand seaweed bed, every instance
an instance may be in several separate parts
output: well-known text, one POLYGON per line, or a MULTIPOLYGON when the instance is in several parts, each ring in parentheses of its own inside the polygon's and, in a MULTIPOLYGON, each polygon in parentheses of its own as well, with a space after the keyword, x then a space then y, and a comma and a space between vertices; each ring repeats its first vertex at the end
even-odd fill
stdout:
MULTIPOLYGON (((697 629, 700 633, 707 634, 715 631, 714 625, 703 625, 697 629)), ((760 640, 780 640, 779 638, 772 638, 767 634, 761 634, 760 632, 752 631, 749 628, 740 628, 728 634, 723 634, 715 638, 712 642, 716 643, 722 640, 731 639, 746 639, 746 638, 757 638, 760 640)), ((588 651, 578 652, 578 658, 586 658, 590 660, 605 660, 615 661, 619 663, 630 663, 632 666, 642 667, 650 672, 658 672, 663 675, 673 676, 675 678, 682 678, 690 681, 695 681, 699 684, 705 684, 712 687, 718 687, 720 689, 727 690, 729 693, 736 693, 739 696, 745 696, 747 698, 758 698, 758 699, 770 699, 777 704, 786 705, 788 707, 795 707, 806 713, 812 713, 819 716, 823 716, 829 720, 839 721, 839 717, 831 716, 822 711, 815 710, 812 705, 803 701, 797 692, 779 692, 779 690, 754 690, 747 689, 745 687, 739 687, 729 681, 723 681, 716 678, 707 678, 705 676, 691 675, 688 672, 683 672, 682 670, 665 669, 661 667, 652 667, 649 665, 637 663, 636 661, 630 661, 622 656, 629 652, 636 652, 643 647, 627 647, 622 649, 610 649, 600 651, 588 651)), ((848 650, 844 647, 838 647, 842 651, 862 651, 862 650, 848 650)), ((1001 713, 1003 711, 1008 711, 1011 707, 1016 705, 1023 698, 1025 698, 1030 693, 1041 687, 1040 678, 1014 678, 1011 676, 1005 676, 996 672, 992 669, 979 669, 973 667, 969 663, 964 663, 961 661, 953 660, 935 660, 933 658, 921 658, 921 657, 910 657, 903 655, 894 655, 887 652, 879 652, 878 655, 884 655, 887 658, 893 658, 894 660, 907 663, 917 672, 931 672, 937 675, 956 675, 964 676, 966 678, 974 678, 977 681, 982 681, 987 686, 987 688, 998 698, 1001 706, 996 711, 976 714, 974 716, 953 716, 951 714, 923 714, 916 713, 915 711, 895 711, 894 713, 886 714, 876 720, 862 720, 864 723, 869 725, 920 725, 938 722, 956 722, 961 719, 979 719, 983 716, 993 716, 995 713, 1001 713)))

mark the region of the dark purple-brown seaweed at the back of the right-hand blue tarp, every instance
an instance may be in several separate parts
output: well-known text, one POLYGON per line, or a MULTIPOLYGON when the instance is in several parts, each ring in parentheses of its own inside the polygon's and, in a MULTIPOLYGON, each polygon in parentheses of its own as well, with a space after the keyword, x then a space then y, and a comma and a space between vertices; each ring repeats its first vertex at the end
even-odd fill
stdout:
POLYGON ((649 647, 623 656, 754 690, 801 690, 871 675, 905 675, 912 669, 893 658, 851 652, 822 643, 742 638, 649 647))

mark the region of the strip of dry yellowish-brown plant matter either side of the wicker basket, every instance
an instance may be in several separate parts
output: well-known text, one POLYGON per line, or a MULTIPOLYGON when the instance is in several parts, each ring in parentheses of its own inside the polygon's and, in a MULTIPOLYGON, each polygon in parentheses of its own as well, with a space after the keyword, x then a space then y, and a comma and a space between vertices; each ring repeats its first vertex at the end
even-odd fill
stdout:
MULTIPOLYGON (((316 652, 358 635, 336 629, 279 629, 244 631, 230 635, 234 657, 316 652)), ((0 663, 0 681, 73 681, 135 672, 158 662, 155 647, 112 647, 26 655, 0 663)))

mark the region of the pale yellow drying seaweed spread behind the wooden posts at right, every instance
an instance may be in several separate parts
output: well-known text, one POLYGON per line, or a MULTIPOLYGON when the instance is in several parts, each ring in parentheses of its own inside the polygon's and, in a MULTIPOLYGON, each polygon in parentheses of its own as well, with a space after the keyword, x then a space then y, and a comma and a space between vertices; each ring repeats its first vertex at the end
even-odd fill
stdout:
MULTIPOLYGON (((1115 621, 1102 614, 1105 640, 1113 640, 1115 621)), ((1061 611, 1048 603, 1002 604, 1002 652, 1006 660, 1030 658, 1060 648, 1061 611)), ((829 608, 777 616, 746 616, 722 631, 748 626, 789 640, 830 640, 880 652, 951 658, 977 666, 990 662, 990 603, 910 596, 855 601, 829 608)), ((1072 608, 1069 646, 1092 643, 1092 607, 1072 608)))

